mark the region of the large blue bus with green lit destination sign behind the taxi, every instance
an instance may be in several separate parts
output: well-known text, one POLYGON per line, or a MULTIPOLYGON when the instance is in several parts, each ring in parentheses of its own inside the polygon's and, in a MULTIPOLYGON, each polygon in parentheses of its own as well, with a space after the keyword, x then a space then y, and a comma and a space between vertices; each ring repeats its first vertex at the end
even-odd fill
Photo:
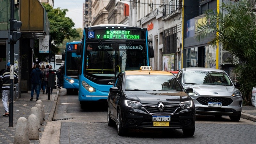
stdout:
POLYGON ((78 100, 84 108, 85 102, 107 100, 119 72, 150 66, 154 50, 147 28, 100 24, 84 28, 76 54, 81 55, 78 100))

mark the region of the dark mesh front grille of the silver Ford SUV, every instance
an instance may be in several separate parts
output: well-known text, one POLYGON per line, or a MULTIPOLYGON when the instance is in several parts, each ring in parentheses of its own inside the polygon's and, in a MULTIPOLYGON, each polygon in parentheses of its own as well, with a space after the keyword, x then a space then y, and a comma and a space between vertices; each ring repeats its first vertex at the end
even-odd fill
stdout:
POLYGON ((200 104, 208 106, 208 102, 221 102, 222 106, 230 105, 233 100, 230 98, 222 97, 199 97, 196 99, 200 104))

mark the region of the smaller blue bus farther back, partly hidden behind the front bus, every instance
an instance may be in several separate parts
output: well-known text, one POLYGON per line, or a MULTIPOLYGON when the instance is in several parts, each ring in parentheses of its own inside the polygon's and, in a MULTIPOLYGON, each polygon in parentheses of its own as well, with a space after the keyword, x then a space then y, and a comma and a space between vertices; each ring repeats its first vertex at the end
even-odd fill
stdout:
POLYGON ((67 94, 76 94, 78 92, 78 65, 81 61, 81 56, 76 54, 78 43, 81 42, 67 43, 66 49, 62 54, 62 60, 64 60, 63 88, 67 89, 67 94))

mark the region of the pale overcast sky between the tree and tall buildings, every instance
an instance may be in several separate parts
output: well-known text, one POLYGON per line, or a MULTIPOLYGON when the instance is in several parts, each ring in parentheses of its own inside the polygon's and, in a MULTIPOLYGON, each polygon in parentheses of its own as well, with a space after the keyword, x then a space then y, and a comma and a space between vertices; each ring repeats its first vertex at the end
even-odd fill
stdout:
POLYGON ((66 17, 75 23, 74 28, 83 27, 83 3, 85 0, 54 0, 53 8, 68 9, 66 17))

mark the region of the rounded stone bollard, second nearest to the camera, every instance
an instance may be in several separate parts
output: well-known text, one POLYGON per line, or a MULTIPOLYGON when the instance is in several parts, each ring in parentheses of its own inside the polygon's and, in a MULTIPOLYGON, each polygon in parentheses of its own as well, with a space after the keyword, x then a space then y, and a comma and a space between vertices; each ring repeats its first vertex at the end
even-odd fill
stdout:
POLYGON ((39 140, 37 116, 31 114, 28 116, 28 138, 29 140, 39 140))

